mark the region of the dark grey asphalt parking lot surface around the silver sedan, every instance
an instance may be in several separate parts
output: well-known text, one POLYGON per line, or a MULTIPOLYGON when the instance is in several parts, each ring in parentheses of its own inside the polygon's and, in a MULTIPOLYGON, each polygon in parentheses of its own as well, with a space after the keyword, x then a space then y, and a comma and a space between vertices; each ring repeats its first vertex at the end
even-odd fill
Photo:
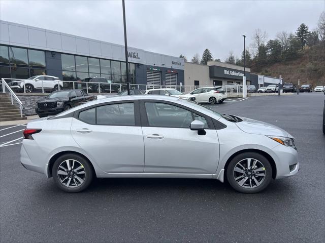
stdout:
POLYGON ((258 194, 241 194, 216 180, 125 178, 98 179, 86 191, 68 194, 20 165, 21 132, 4 135, 23 126, 0 127, 0 241, 324 242, 324 98, 303 93, 208 105, 266 121, 296 138, 299 173, 258 194))

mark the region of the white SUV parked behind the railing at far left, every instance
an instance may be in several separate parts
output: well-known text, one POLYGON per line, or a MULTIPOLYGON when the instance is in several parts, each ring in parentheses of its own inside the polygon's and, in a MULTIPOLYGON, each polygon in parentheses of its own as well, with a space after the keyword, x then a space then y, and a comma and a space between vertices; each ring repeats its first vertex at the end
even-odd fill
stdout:
POLYGON ((26 93, 62 90, 63 87, 63 83, 58 77, 48 75, 31 76, 27 79, 13 80, 8 83, 10 88, 16 92, 24 92, 24 84, 26 93))

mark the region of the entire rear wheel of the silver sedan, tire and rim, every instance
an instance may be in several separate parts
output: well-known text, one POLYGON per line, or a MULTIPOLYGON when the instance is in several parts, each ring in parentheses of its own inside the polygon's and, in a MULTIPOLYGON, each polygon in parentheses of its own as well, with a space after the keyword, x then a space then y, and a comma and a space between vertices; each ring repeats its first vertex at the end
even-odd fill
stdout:
POLYGON ((58 157, 52 168, 55 184, 67 192, 80 192, 86 189, 93 178, 89 161, 74 153, 58 157))

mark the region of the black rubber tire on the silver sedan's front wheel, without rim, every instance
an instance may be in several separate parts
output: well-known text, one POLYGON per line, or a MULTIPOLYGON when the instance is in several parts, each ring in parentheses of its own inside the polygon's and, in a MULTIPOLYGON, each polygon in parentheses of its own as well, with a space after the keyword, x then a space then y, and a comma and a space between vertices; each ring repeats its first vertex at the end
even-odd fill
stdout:
MULTIPOLYGON (((257 163, 256 163, 256 165, 257 165, 257 163)), ((259 173, 261 173, 261 172, 259 172, 259 173)), ((263 155, 261 155, 259 153, 255 153, 255 152, 244 152, 244 153, 236 155, 230 161, 228 167, 226 168, 226 177, 227 177, 229 184, 235 190, 242 192, 242 193, 256 193, 256 192, 260 192, 260 191, 264 190, 270 184, 270 182, 272 180, 272 167, 271 167, 269 160, 266 157, 264 157, 263 155), (248 171, 247 173, 250 172, 251 174, 244 177, 244 178, 248 177, 246 180, 248 180, 248 179, 251 180, 251 178, 249 176, 255 175, 255 179, 256 178, 261 179, 260 182, 262 182, 262 183, 259 185, 257 185, 255 182, 253 182, 254 180, 251 180, 252 183, 255 184, 255 187, 252 187, 252 188, 245 188, 245 183, 243 186, 240 186, 238 184, 238 182, 235 180, 235 173, 237 173, 237 172, 234 172, 234 169, 235 169, 236 165, 240 161, 245 162, 245 159, 247 159, 247 158, 252 158, 252 159, 258 160, 261 162, 261 164, 259 164, 259 163, 258 164, 264 166, 264 170, 263 170, 263 173, 265 173, 264 179, 263 179, 263 177, 256 176, 256 174, 252 174, 253 171, 251 171, 251 172, 248 171)), ((238 180, 240 180, 240 179, 238 179, 238 180)), ((247 181, 245 181, 245 182, 247 182, 247 181)))

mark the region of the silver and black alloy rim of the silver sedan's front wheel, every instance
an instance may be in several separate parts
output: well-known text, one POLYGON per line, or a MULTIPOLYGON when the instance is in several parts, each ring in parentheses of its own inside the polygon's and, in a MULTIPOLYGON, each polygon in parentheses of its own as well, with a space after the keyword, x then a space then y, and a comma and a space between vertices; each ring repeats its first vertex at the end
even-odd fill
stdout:
POLYGON ((239 186, 255 188, 264 182, 266 171, 261 161, 254 158, 245 158, 236 164, 233 175, 239 186))

